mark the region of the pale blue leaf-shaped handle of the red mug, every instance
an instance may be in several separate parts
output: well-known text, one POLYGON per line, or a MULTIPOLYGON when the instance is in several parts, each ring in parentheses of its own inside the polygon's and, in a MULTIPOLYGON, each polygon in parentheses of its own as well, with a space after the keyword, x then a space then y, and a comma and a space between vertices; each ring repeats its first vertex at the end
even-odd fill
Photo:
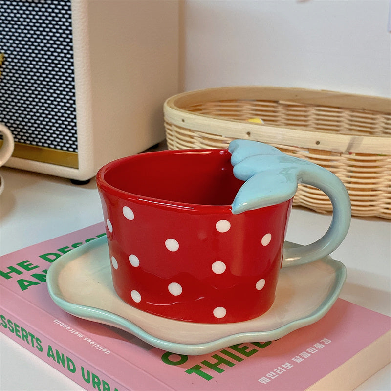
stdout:
POLYGON ((326 257, 342 243, 350 225, 351 206, 348 192, 336 175, 256 141, 234 140, 228 150, 234 175, 245 181, 232 203, 233 214, 284 202, 295 195, 298 183, 322 190, 331 201, 333 216, 326 233, 306 246, 285 248, 283 267, 326 257))

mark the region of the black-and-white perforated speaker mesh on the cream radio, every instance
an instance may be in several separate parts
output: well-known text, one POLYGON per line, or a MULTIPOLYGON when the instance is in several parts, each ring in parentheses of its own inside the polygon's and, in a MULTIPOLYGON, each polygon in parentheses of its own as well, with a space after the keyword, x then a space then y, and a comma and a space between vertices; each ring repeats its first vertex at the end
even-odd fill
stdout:
POLYGON ((71 1, 0 0, 0 122, 15 141, 77 152, 71 1))

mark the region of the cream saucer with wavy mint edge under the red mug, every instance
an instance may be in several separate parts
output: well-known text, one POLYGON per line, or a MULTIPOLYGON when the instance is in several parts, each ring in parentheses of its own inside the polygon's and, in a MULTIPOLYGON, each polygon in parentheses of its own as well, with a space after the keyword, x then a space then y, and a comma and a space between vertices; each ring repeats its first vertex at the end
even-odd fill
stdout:
POLYGON ((176 321, 140 311, 117 296, 107 238, 102 237, 54 262, 47 286, 53 301, 72 315, 121 328, 156 348, 198 355, 233 344, 276 340, 318 321, 337 300, 345 278, 345 266, 326 257, 283 268, 275 303, 256 319, 228 324, 176 321))

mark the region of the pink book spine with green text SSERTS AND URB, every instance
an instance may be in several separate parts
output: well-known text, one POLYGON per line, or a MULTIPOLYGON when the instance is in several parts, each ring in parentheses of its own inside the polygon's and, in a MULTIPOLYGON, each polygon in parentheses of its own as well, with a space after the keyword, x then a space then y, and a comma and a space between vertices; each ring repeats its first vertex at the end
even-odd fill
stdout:
POLYGON ((123 391, 129 387, 108 378, 99 369, 59 346, 53 339, 43 336, 36 327, 27 325, 15 313, 7 311, 0 303, 0 331, 57 369, 86 390, 123 391))

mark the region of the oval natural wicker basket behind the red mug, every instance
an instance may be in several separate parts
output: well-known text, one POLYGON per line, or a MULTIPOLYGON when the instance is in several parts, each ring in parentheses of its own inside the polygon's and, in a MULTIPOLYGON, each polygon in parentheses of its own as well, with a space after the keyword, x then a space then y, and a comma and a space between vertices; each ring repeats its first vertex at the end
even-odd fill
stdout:
MULTIPOLYGON (((169 149, 226 148, 233 139, 271 144, 325 167, 345 184, 352 215, 391 218, 391 100, 280 87, 221 87, 164 103, 169 149), (261 118, 264 124, 249 122, 261 118)), ((332 210, 299 185, 294 205, 332 210)))

